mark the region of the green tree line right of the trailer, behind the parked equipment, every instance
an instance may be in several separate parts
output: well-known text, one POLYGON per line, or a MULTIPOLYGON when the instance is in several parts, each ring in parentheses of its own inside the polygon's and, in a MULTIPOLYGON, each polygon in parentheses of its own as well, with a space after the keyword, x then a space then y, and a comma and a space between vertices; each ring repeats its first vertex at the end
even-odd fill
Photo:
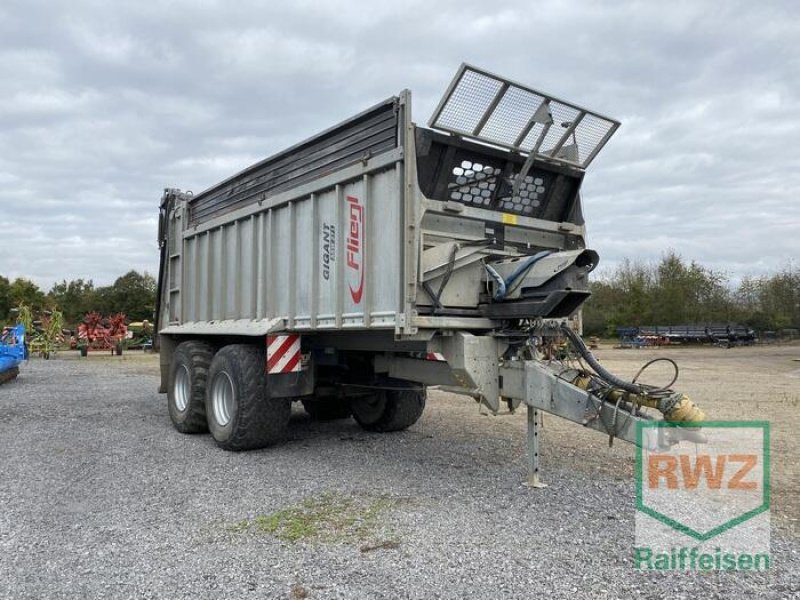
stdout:
POLYGON ((791 265, 733 284, 668 252, 657 263, 624 260, 595 277, 584 305, 586 335, 614 336, 617 327, 740 324, 758 332, 800 327, 800 273, 791 265))

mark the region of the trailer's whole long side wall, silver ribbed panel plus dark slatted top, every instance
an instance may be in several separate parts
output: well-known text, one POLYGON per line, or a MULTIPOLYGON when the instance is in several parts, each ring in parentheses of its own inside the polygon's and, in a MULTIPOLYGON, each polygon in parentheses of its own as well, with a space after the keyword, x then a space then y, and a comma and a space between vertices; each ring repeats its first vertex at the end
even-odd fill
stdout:
MULTIPOLYGON (((404 160, 413 148, 404 126, 408 99, 401 94, 335 128, 334 138, 347 136, 344 148, 336 139, 311 140, 306 163, 344 159, 341 169, 265 192, 256 165, 176 204, 166 332, 224 321, 253 334, 403 330, 413 307, 404 283, 414 280, 404 247, 418 247, 406 225, 414 218, 406 194, 412 208, 421 200, 408 185, 413 164, 404 160), (328 155, 319 157, 323 144, 328 155)), ((272 175, 275 167, 267 167, 272 175)))

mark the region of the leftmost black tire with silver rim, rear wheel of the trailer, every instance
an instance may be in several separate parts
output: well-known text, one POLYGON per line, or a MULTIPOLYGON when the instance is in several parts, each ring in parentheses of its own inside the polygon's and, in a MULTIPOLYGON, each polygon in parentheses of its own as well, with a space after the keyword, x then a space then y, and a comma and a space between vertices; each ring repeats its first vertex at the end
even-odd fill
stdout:
POLYGON ((205 342, 178 344, 172 355, 167 408, 172 425, 181 433, 205 433, 206 382, 214 348, 205 342))

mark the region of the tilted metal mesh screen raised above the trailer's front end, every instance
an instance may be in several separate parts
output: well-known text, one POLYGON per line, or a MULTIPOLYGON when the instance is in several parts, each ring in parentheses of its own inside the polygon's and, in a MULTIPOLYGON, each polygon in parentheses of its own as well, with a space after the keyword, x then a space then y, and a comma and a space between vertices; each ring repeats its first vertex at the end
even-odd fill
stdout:
POLYGON ((463 64, 428 125, 585 169, 619 122, 463 64))

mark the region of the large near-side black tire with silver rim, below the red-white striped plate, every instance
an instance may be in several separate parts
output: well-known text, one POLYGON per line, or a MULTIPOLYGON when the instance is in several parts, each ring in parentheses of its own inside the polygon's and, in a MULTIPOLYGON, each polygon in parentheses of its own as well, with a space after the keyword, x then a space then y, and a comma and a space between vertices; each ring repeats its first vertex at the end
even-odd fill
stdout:
POLYGON ((206 415, 220 448, 254 450, 286 437, 292 400, 268 397, 264 365, 264 349, 246 344, 225 346, 211 361, 206 415))

